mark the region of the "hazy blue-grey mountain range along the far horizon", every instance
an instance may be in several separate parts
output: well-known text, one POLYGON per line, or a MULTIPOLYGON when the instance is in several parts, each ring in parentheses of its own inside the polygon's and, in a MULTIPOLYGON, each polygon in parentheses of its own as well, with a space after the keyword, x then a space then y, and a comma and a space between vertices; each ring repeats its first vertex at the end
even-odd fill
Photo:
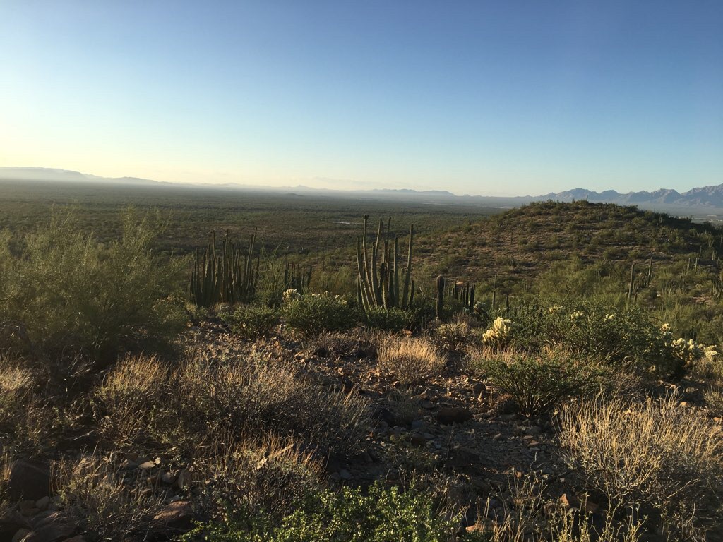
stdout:
MULTIPOLYGON (((156 186, 179 186, 161 181, 151 181, 147 178, 118 177, 108 178, 77 171, 51 168, 0 168, 0 179, 14 181, 65 181, 65 182, 92 182, 112 184, 134 184, 134 185, 156 185, 156 186)), ((185 185, 188 186, 188 185, 185 185)), ((204 184, 197 185, 199 188, 213 189, 214 186, 204 184)), ((615 190, 605 192, 593 192, 582 188, 576 188, 565 192, 550 192, 542 196, 518 196, 518 197, 494 197, 494 196, 458 196, 446 190, 412 190, 412 189, 370 189, 370 190, 331 190, 315 189, 308 186, 249 186, 242 184, 223 184, 215 186, 217 189, 243 189, 269 192, 288 192, 293 190, 295 195, 359 195, 369 198, 394 198, 394 199, 419 199, 424 202, 458 203, 460 205, 486 205, 489 207, 518 207, 529 202, 545 201, 552 199, 559 202, 571 202, 573 199, 588 199, 589 202, 617 203, 619 205, 640 205, 641 207, 659 210, 666 209, 695 209, 705 207, 709 209, 723 210, 723 184, 716 186, 702 186, 688 192, 677 192, 672 189, 659 189, 654 192, 628 192, 620 194, 615 190)))

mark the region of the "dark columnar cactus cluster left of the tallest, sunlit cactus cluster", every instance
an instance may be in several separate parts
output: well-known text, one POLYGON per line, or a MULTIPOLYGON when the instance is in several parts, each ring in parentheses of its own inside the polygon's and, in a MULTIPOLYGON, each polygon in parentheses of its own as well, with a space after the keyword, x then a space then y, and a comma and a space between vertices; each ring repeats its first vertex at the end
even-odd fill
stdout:
POLYGON ((216 233, 211 232, 206 251, 196 251, 196 264, 191 274, 191 296, 197 306, 234 304, 252 298, 259 273, 258 259, 254 266, 255 241, 254 232, 249 250, 244 254, 238 246, 231 246, 226 231, 221 251, 217 251, 216 233))

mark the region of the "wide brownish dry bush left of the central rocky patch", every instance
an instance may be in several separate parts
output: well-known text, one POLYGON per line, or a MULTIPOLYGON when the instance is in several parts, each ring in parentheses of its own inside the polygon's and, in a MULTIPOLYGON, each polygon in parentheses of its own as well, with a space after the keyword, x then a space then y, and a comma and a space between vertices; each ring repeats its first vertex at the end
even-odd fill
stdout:
POLYGON ((148 431, 187 449, 218 434, 298 436, 322 449, 361 445, 366 400, 332 393, 289 361, 262 356, 189 356, 168 378, 148 431))

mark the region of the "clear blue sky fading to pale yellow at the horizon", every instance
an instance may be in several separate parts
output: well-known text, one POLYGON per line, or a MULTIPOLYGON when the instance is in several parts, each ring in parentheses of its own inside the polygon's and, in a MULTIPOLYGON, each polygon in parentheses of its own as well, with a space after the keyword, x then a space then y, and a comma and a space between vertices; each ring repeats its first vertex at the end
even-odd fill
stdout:
POLYGON ((0 166, 544 194, 723 183, 723 1, 0 0, 0 166))

